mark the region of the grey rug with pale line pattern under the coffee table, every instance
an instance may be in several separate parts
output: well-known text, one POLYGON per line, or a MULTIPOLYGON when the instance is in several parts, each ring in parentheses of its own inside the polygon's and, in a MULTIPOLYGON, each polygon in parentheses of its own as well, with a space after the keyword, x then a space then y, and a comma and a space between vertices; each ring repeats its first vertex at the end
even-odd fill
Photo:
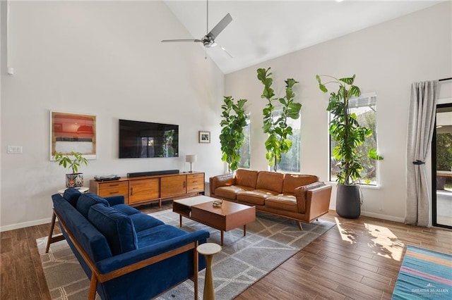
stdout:
MULTIPOLYGON (((169 225, 179 227, 179 215, 171 209, 152 213, 169 225)), ((187 218, 182 229, 208 230, 208 242, 220 244, 220 231, 187 218)), ((295 221, 265 213, 256 213, 256 221, 224 233, 222 251, 213 258, 215 296, 218 300, 234 299, 247 287, 278 267, 300 249, 331 229, 335 224, 326 220, 303 224, 299 230, 295 221)), ((45 254, 47 237, 37 239, 44 275, 52 299, 86 299, 90 282, 66 241, 54 243, 45 254)), ((199 299, 202 299, 205 270, 199 273, 199 299)), ((193 299, 191 280, 174 287, 157 299, 193 299)), ((100 299, 97 296, 97 299, 100 299)))

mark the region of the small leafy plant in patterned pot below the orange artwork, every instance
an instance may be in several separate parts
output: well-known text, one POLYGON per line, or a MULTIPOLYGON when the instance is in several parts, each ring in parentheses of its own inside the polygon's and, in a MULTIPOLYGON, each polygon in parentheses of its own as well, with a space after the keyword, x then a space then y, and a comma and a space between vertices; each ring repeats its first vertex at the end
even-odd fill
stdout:
POLYGON ((72 169, 72 173, 66 174, 66 187, 83 187, 83 173, 78 173, 78 168, 82 163, 88 165, 88 160, 74 151, 66 155, 56 152, 53 156, 58 165, 72 169))

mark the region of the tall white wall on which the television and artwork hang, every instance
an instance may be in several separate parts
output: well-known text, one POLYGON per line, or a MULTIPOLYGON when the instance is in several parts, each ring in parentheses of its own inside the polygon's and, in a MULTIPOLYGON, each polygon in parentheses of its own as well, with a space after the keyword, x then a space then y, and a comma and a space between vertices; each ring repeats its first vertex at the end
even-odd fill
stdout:
POLYGON ((198 44, 162 44, 189 32, 160 1, 11 1, 5 70, 6 1, 1 1, 0 230, 49 222, 50 196, 66 170, 49 161, 49 111, 97 115, 94 175, 188 170, 222 173, 224 75, 198 44), (118 119, 179 125, 179 158, 118 158, 118 119), (211 131, 198 144, 198 130, 211 131), (6 154, 6 146, 23 154, 6 154))

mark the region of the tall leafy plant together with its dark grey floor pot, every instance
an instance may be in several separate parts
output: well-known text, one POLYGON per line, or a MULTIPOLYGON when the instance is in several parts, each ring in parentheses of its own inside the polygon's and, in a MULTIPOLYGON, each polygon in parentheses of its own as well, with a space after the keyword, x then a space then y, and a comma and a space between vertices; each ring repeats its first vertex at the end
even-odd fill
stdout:
MULTIPOLYGON (((328 108, 326 108, 333 115, 329 132, 331 139, 335 142, 333 156, 339 168, 336 180, 338 182, 336 212, 344 218, 358 218, 362 204, 357 185, 362 171, 362 156, 359 154, 358 147, 373 133, 369 127, 359 125, 355 113, 350 113, 349 100, 361 95, 361 90, 354 85, 355 75, 340 79, 328 75, 316 75, 316 80, 322 92, 328 92, 326 89, 328 84, 338 85, 338 91, 330 93, 328 108), (331 80, 322 83, 321 77, 331 80)), ((369 149, 367 156, 376 160, 383 159, 374 148, 369 149)))

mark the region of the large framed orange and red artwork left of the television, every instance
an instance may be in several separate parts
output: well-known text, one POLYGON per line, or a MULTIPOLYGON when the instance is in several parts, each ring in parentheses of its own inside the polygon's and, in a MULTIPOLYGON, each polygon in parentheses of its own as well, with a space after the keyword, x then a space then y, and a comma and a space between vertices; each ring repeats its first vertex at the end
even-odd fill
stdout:
POLYGON ((50 160, 55 152, 72 151, 96 159, 96 116, 50 111, 50 160))

